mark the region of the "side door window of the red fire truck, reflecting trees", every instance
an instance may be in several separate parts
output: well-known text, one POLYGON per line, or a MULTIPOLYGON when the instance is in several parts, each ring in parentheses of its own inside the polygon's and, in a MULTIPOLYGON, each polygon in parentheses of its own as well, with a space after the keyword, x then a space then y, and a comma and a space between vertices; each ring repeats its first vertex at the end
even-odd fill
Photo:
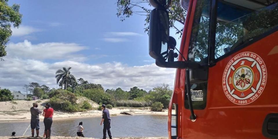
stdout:
POLYGON ((262 3, 258 8, 252 1, 241 3, 218 1, 215 38, 215 58, 239 48, 242 44, 277 27, 278 3, 262 3))

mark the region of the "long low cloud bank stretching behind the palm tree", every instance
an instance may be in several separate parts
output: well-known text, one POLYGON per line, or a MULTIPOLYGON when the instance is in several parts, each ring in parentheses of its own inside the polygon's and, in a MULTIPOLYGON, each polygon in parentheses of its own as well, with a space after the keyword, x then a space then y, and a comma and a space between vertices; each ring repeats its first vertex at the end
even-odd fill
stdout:
POLYGON ((160 68, 155 64, 128 66, 122 63, 90 65, 74 61, 45 63, 38 60, 24 60, 6 57, 0 61, 0 87, 21 91, 24 84, 38 82, 49 87, 58 87, 55 72, 62 67, 72 67, 76 78, 84 78, 91 83, 102 84, 105 89, 121 87, 129 90, 133 86, 149 90, 160 83, 174 84, 175 69, 160 68))

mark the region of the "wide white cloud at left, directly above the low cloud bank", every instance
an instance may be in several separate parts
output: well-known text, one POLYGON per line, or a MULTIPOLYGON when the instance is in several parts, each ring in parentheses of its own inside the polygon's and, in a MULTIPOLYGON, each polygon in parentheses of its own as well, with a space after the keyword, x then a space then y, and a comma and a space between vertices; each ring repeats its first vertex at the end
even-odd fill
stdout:
MULTIPOLYGON (((75 52, 86 49, 76 43, 39 43, 32 44, 28 40, 21 43, 9 43, 7 45, 8 56, 17 56, 28 59, 72 59, 82 56, 75 52)), ((84 58, 83 58, 84 59, 84 58)))

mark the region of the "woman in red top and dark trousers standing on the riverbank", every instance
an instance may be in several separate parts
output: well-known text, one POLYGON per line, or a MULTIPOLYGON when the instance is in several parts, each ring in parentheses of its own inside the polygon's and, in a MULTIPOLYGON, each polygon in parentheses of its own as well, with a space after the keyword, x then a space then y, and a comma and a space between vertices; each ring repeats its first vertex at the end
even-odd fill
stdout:
POLYGON ((44 116, 44 133, 45 137, 50 139, 51 135, 51 125, 52 125, 52 116, 53 116, 53 109, 51 108, 50 103, 45 104, 45 109, 43 110, 43 116, 44 116))

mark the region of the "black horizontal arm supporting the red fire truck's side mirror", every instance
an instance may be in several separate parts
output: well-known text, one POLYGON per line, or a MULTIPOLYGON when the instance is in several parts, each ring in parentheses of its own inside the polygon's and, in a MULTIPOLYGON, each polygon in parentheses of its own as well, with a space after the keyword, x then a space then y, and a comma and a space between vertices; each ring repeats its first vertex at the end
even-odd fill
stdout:
POLYGON ((164 60, 156 60, 156 65, 159 67, 168 67, 168 68, 179 68, 179 69, 198 69, 201 68, 201 65, 196 62, 185 62, 185 61, 174 61, 166 62, 164 60))

